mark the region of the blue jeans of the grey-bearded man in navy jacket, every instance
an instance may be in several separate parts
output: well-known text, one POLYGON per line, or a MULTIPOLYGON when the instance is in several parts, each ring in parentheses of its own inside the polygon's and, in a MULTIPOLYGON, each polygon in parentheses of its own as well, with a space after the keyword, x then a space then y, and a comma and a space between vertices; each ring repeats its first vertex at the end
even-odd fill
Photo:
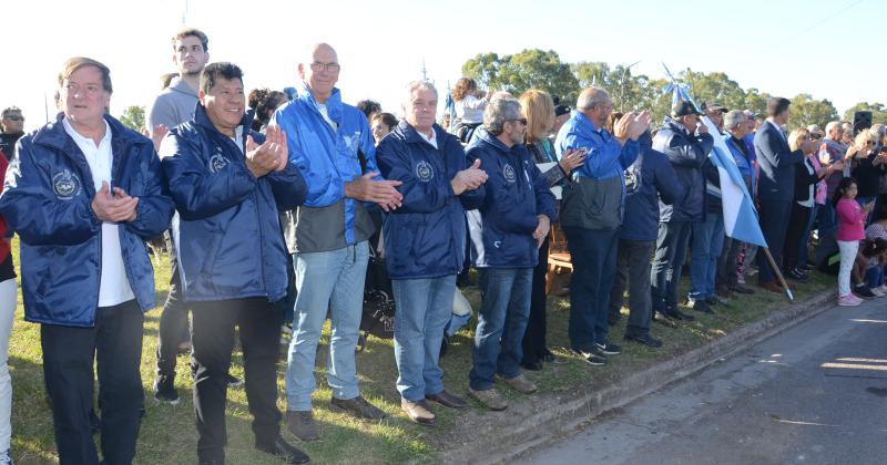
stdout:
POLYGON ((520 374, 532 282, 532 268, 480 269, 482 300, 475 330, 473 366, 468 373, 472 390, 492 389, 496 373, 504 379, 520 374))

